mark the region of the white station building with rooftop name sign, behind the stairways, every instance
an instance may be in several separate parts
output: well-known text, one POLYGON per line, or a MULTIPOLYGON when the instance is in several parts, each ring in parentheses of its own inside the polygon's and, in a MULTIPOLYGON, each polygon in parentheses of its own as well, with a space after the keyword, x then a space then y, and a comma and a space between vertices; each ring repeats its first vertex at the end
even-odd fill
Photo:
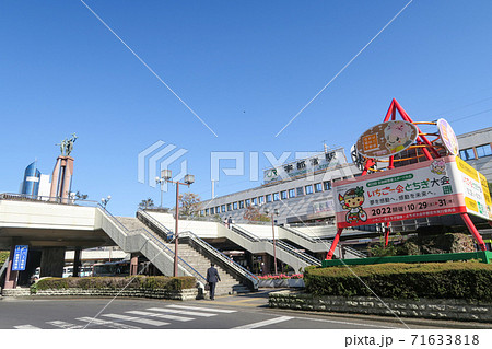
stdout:
POLYGON ((361 171, 347 161, 343 148, 327 150, 306 159, 263 171, 263 184, 201 202, 200 216, 231 218, 246 223, 248 207, 274 214, 277 224, 333 223, 333 182, 359 176, 361 171))

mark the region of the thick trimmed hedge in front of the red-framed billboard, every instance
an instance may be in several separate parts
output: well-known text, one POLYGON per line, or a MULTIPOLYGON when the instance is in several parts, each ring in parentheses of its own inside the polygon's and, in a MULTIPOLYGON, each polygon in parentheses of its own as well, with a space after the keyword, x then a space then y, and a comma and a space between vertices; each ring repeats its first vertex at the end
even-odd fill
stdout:
POLYGON ((492 265, 476 261, 308 267, 304 282, 315 295, 492 302, 492 265))

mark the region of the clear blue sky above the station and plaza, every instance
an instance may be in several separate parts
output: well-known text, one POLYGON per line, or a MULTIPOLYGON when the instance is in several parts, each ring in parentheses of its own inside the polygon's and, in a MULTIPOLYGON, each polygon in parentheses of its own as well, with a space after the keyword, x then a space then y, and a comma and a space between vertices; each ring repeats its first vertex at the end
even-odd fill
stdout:
MULTIPOLYGON (((393 97, 456 133, 492 125, 491 1, 414 0, 279 137, 408 0, 85 2, 219 137, 81 1, 4 0, 0 191, 16 193, 34 159, 50 174, 72 132, 72 189, 112 195, 108 209, 132 216, 141 199, 160 202, 137 165, 157 140, 188 150, 191 191, 208 199, 212 151, 258 151, 261 170, 265 151, 350 148, 393 97)), ((248 166, 222 175, 216 194, 258 185, 248 166)))

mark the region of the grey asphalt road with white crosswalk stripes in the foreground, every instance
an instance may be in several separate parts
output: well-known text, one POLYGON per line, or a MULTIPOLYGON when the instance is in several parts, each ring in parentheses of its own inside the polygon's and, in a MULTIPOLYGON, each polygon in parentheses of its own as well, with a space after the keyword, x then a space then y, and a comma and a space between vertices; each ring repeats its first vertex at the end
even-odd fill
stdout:
POLYGON ((398 329, 491 328, 490 325, 284 311, 268 291, 215 301, 147 299, 2 299, 2 329, 398 329))

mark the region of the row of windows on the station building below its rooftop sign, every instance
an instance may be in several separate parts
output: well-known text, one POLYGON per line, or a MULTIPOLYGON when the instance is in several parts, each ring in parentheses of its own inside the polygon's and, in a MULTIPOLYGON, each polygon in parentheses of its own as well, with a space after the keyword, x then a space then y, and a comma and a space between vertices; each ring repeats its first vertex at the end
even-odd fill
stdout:
POLYGON ((241 210, 241 209, 244 209, 245 207, 248 207, 251 205, 256 206, 256 205, 269 203, 272 201, 286 200, 286 199, 292 199, 292 198, 304 196, 304 195, 311 195, 314 193, 321 193, 321 191, 326 191, 326 190, 330 190, 330 189, 331 189, 330 181, 323 182, 323 183, 316 183, 314 185, 309 184, 304 187, 292 188, 292 189, 283 190, 283 191, 279 191, 279 193, 267 194, 265 196, 259 196, 256 198, 250 198, 250 199, 246 199, 246 200, 241 200, 241 201, 235 201, 235 202, 231 202, 231 203, 226 203, 226 205, 222 205, 222 206, 212 207, 210 209, 201 210, 200 214, 201 216, 211 216, 211 214, 225 213, 229 211, 241 210))

